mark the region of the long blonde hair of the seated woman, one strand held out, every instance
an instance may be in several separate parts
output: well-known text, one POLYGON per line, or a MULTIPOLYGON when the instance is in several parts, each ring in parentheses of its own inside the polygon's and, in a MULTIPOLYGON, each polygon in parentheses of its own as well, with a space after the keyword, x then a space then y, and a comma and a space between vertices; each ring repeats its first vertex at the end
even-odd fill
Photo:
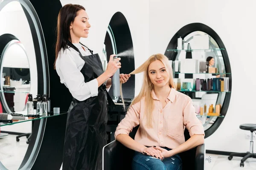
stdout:
MULTIPOLYGON (((173 82, 173 74, 172 74, 172 67, 169 64, 169 59, 163 55, 163 54, 154 54, 151 55, 147 61, 145 61, 140 67, 136 68, 134 71, 132 71, 130 74, 138 74, 141 72, 144 72, 143 75, 143 85, 140 90, 140 93, 138 96, 136 96, 133 101, 131 102, 131 105, 134 105, 137 102, 140 102, 140 100, 145 96, 145 118, 146 118, 146 126, 147 127, 152 127, 152 111, 154 109, 154 104, 153 104, 153 98, 151 97, 151 91, 154 89, 154 85, 151 82, 149 75, 148 75, 148 66, 151 64, 151 62, 154 62, 156 60, 159 60, 163 63, 163 65, 166 68, 167 73, 169 74, 169 86, 172 88, 175 88, 175 84, 173 82)), ((120 90, 121 90, 121 98, 123 102, 123 96, 122 96, 122 83, 120 85, 120 90)), ((124 102, 123 102, 124 105, 124 102)), ((124 105, 125 107, 125 105, 124 105)), ((129 108, 130 108, 129 107, 129 108)), ((129 109, 128 108, 128 109, 129 109)))

